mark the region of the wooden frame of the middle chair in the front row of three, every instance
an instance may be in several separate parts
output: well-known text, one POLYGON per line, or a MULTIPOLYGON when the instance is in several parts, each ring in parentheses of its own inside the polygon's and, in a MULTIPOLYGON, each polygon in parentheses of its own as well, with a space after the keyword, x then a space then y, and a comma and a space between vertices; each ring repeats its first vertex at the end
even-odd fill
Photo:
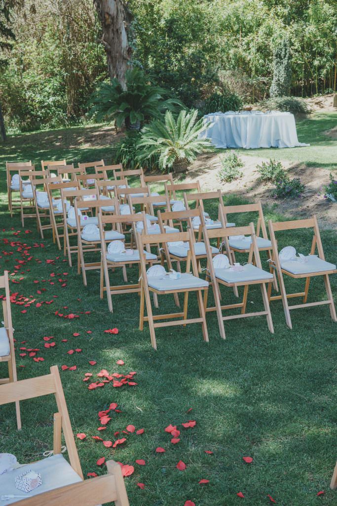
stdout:
MULTIPOLYGON (((221 215, 221 206, 219 206, 219 213, 221 215)), ((267 290, 266 290, 266 283, 270 283, 272 280, 258 279, 255 281, 242 281, 242 282, 228 283, 228 282, 223 281, 222 279, 219 279, 216 277, 215 269, 213 266, 212 252, 211 252, 211 245, 210 245, 211 238, 213 238, 213 239, 218 238, 218 237, 224 238, 224 237, 229 237, 229 235, 250 235, 252 237, 252 243, 251 243, 251 247, 250 247, 250 251, 249 251, 248 263, 253 263, 253 256, 254 256, 255 257, 255 265, 259 269, 262 269, 259 249, 258 249, 257 243, 256 243, 254 224, 251 223, 247 227, 226 228, 223 226, 222 228, 207 229, 205 218, 204 218, 204 215, 202 214, 202 212, 200 213, 200 219, 202 222, 203 236, 204 236, 204 241, 205 241, 206 251, 207 251, 206 278, 209 279, 209 286, 212 286, 214 301, 215 301, 214 307, 207 307, 208 290, 206 290, 205 294, 204 294, 204 308, 205 308, 205 312, 216 311, 221 338, 226 339, 225 327, 224 327, 224 323, 223 323, 225 320, 233 320, 236 318, 247 318, 250 316, 266 316, 268 328, 269 328, 270 332, 274 333, 274 328, 273 328, 273 323, 272 323, 272 318, 271 318, 271 313, 270 313, 270 307, 269 307, 269 301, 268 301, 268 296, 267 296, 267 290), (244 286, 244 295, 243 295, 242 302, 239 302, 236 304, 221 305, 221 303, 220 303, 220 286, 219 286, 220 284, 222 284, 224 286, 234 287, 236 289, 239 286, 244 286), (253 285, 253 284, 259 284, 261 287, 264 311, 259 311, 259 312, 254 312, 254 313, 246 313, 248 289, 249 289, 249 286, 253 285), (233 309, 233 308, 241 308, 241 313, 236 314, 236 315, 230 315, 230 316, 223 316, 222 315, 223 310, 233 309)), ((230 258, 230 256, 228 256, 228 260, 229 260, 229 263, 232 265, 232 259, 230 258)))

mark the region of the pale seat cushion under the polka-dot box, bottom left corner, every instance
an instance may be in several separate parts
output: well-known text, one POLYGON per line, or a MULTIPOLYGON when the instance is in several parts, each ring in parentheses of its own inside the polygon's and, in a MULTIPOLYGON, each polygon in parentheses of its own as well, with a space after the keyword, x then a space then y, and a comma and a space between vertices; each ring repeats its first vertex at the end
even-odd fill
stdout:
MULTIPOLYGON (((0 475, 0 492, 1 494, 27 495, 27 497, 31 497, 41 494, 42 492, 65 487, 66 485, 71 485, 72 483, 78 483, 80 481, 82 481, 81 478, 73 470, 64 456, 59 453, 58 455, 43 458, 38 462, 27 464, 26 466, 22 466, 18 469, 14 469, 13 471, 0 475), (41 474, 42 485, 25 494, 25 492, 16 488, 15 478, 29 469, 35 473, 41 474)), ((22 499, 23 497, 14 497, 13 499, 9 499, 7 501, 1 501, 1 504, 3 506, 7 506, 7 504, 12 504, 13 502, 17 502, 22 499)))

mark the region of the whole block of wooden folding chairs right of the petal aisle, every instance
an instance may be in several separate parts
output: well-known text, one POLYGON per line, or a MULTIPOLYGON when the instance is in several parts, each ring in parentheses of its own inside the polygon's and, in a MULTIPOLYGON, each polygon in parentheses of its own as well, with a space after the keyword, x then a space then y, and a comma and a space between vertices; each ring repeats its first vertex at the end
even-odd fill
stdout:
MULTIPOLYGON (((9 166, 8 170, 14 171, 14 168, 14 166, 9 166)), ((286 323, 290 328, 292 328, 290 311, 303 307, 327 304, 332 320, 336 321, 328 276, 337 271, 335 265, 324 259, 315 217, 310 220, 279 223, 269 221, 270 238, 268 238, 260 202, 224 206, 220 190, 202 192, 199 182, 175 184, 171 174, 146 176, 141 169, 124 171, 121 165, 106 166, 103 160, 79 164, 76 169, 73 165, 67 165, 66 160, 63 160, 63 164, 61 161, 53 163, 42 161, 40 171, 22 172, 20 181, 23 180, 23 174, 28 175, 31 183, 41 236, 44 229, 51 228, 59 247, 61 247, 60 239, 64 239, 64 253, 68 256, 70 265, 72 265, 72 255, 77 255, 78 273, 82 272, 84 285, 87 284, 86 272, 100 269, 100 294, 103 298, 104 293, 107 293, 110 311, 113 311, 112 296, 131 292, 139 293, 139 328, 143 328, 144 321, 149 322, 154 348, 156 348, 155 328, 186 324, 188 291, 197 292, 199 306, 198 318, 189 319, 188 323, 202 323, 205 341, 208 341, 205 314, 210 311, 217 313, 219 331, 223 339, 225 338, 223 323, 225 320, 246 318, 252 315, 266 315, 269 330, 273 332, 269 302, 274 300, 282 300, 286 323), (92 169, 95 171, 93 174, 86 173, 87 170, 92 169), (113 179, 111 177, 109 179, 111 174, 113 179), (69 177, 72 178, 71 181, 69 177), (128 177, 136 177, 138 186, 130 187, 128 177), (150 188, 150 184, 159 183, 164 183, 165 193, 162 195, 151 191, 150 188), (37 193, 39 185, 46 190, 41 192, 44 201, 37 193), (192 191, 196 193, 191 193, 192 191), (183 194, 182 200, 177 198, 178 193, 183 194), (191 208, 192 202, 195 202, 194 209, 191 208), (212 202, 217 208, 216 220, 211 220, 206 212, 205 203, 207 202, 212 202), (71 206, 70 209, 69 206, 71 206), (136 212, 136 208, 140 208, 140 211, 136 212), (46 214, 42 215, 40 211, 45 211, 46 214), (252 212, 258 215, 256 230, 252 224, 248 227, 235 227, 234 223, 228 221, 232 214, 243 216, 252 212), (42 224, 42 216, 49 219, 47 224, 42 224), (60 228, 62 233, 59 232, 60 228), (310 255, 303 259, 296 257, 287 259, 284 255, 280 256, 275 234, 279 231, 303 228, 313 229, 310 255), (187 235, 179 236, 179 233, 188 234, 189 232, 188 237, 187 235), (128 234, 130 238, 129 242, 126 242, 128 234), (144 238, 147 238, 147 242, 142 242, 144 238), (184 241, 186 244, 183 244, 184 241), (314 255, 316 247, 318 257, 314 255), (261 251, 267 254, 269 272, 261 267, 261 251), (92 262, 95 254, 98 257, 92 262), (235 265, 237 254, 246 254, 248 264, 235 265), (86 260, 88 255, 90 261, 86 260), (203 261, 207 264, 205 279, 199 276, 203 261), (179 281, 171 283, 170 293, 174 294, 176 306, 180 305, 179 293, 184 293, 184 310, 181 313, 169 315, 169 319, 174 321, 158 322, 156 320, 164 319, 164 315, 154 315, 150 304, 150 292, 153 293, 154 304, 158 308, 158 296, 166 294, 167 291, 159 288, 159 285, 155 289, 149 284, 145 267, 151 268, 160 263, 162 268, 166 265, 170 272, 173 270, 173 262, 176 263, 178 272, 181 271, 181 264, 185 263, 187 269, 185 274, 192 267, 192 275, 199 279, 198 282, 195 281, 198 289, 183 285, 182 279, 186 278, 185 276, 180 276, 179 281), (226 265, 215 268, 215 265, 220 265, 219 262, 225 262, 226 265), (138 265, 139 280, 133 284, 125 284, 127 283, 127 267, 133 265, 138 265), (115 270, 118 268, 121 268, 123 272, 124 284, 122 285, 115 281, 117 278, 115 270), (111 271, 114 278, 112 283, 109 276, 111 271), (231 278, 228 278, 229 274, 231 278), (304 290, 287 293, 284 275, 295 279, 305 278, 304 290), (313 276, 323 276, 327 293, 325 301, 307 302, 310 279, 313 276), (264 311, 246 312, 248 289, 252 284, 261 285, 264 311), (221 305, 222 296, 219 285, 232 287, 236 297, 238 288, 243 286, 242 302, 221 305), (272 295, 272 286, 275 290, 279 289, 280 293, 272 295), (214 307, 208 306, 209 287, 212 287, 214 307), (288 299, 295 297, 302 298, 302 303, 290 306, 288 299), (202 299, 203 303, 200 302, 202 299), (144 316, 145 307, 147 316, 144 316), (222 316, 222 310, 235 308, 240 309, 240 314, 222 316), (182 320, 176 320, 178 317, 182 317, 182 320)), ((172 279, 172 275, 171 277, 166 275, 164 279, 172 279)))

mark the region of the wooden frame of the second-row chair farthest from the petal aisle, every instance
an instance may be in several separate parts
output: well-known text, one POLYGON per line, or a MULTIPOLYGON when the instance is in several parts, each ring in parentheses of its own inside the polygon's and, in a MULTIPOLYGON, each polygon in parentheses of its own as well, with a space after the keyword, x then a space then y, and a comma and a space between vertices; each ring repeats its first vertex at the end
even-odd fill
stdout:
MULTIPOLYGON (((267 234, 267 227, 266 227, 265 219, 263 216, 263 210, 262 210, 262 205, 261 205, 260 200, 256 204, 223 205, 222 206, 222 216, 224 217, 224 222, 226 225, 228 223, 227 215, 229 215, 229 214, 254 213, 254 212, 258 213, 258 221, 257 221, 257 226, 256 226, 256 237, 260 237, 260 232, 262 232, 262 238, 269 240, 269 237, 267 234)), ((227 254, 231 255, 233 257, 233 262, 236 262, 235 252, 236 253, 249 253, 249 251, 250 251, 250 248, 238 249, 238 248, 234 248, 234 247, 229 246, 228 237, 226 238, 225 247, 226 247, 227 254)), ((259 247, 259 251, 266 251, 267 256, 268 256, 268 260, 271 261, 271 259, 272 259, 272 246, 271 245, 267 246, 267 247, 259 247)), ((273 282, 274 289, 276 291, 278 291, 275 271, 274 271, 273 267, 270 265, 270 263, 269 263, 269 271, 274 276, 274 282, 273 282)))

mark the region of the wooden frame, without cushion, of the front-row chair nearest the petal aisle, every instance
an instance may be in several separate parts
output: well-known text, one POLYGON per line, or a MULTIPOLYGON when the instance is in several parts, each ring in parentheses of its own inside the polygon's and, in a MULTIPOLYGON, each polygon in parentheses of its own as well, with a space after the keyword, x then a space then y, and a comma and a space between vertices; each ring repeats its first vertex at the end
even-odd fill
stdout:
POLYGON ((149 286, 148 276, 147 276, 147 268, 145 262, 145 256, 142 255, 142 251, 144 246, 149 247, 151 244, 164 243, 169 241, 188 241, 189 243, 189 251, 187 254, 186 260, 186 273, 189 273, 190 266, 192 266, 192 274, 199 278, 198 275, 198 267, 197 261, 194 254, 193 242, 194 239, 192 237, 191 230, 187 232, 175 232, 172 234, 154 234, 148 235, 146 230, 141 234, 136 234, 136 240, 139 250, 140 256, 140 268, 141 268, 141 292, 140 292, 140 311, 139 311, 139 330, 143 329, 144 322, 147 321, 149 323, 150 335, 151 335, 151 344, 155 350, 157 350, 157 342, 156 342, 156 333, 155 329, 160 327, 169 327, 176 325, 188 325, 190 323, 201 323, 202 332, 204 341, 208 343, 208 331, 207 331, 207 323, 206 323, 206 313, 203 305, 202 291, 207 289, 206 287, 198 287, 198 288, 184 288, 184 289, 172 289, 159 291, 155 288, 149 286), (199 306, 199 318, 187 318, 187 309, 188 309, 188 295, 189 292, 195 291, 197 293, 197 300, 199 306), (150 293, 158 295, 164 295, 168 293, 178 294, 184 293, 184 303, 183 303, 183 311, 179 313, 169 313, 169 314, 160 314, 153 315, 152 306, 151 306, 151 297, 150 293), (145 316, 145 305, 147 309, 147 316, 145 316), (180 318, 176 320, 175 318, 180 318), (169 320, 169 321, 158 321, 158 320, 169 320), (173 320, 173 321, 170 321, 173 320))

